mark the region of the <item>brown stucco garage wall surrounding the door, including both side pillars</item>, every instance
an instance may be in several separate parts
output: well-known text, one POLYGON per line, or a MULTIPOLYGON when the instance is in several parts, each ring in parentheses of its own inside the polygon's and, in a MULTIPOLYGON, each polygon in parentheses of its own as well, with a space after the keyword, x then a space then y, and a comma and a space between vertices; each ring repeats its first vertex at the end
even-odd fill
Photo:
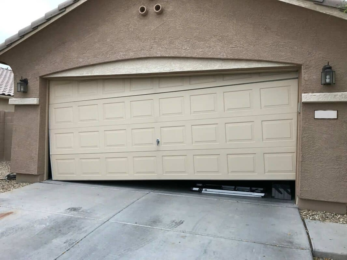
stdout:
MULTIPOLYGON (((15 97, 39 97, 41 103, 16 108, 12 171, 44 173, 47 86, 39 78, 61 70, 148 56, 265 60, 301 65, 301 92, 347 90, 347 20, 277 0, 163 0, 162 15, 139 16, 142 4, 152 10, 155 3, 88 0, 0 55, 15 80, 29 79, 28 93, 15 97), (337 84, 322 87, 327 61, 337 84)), ((303 105, 298 196, 347 203, 346 113, 346 104, 303 105), (338 109, 339 119, 313 120, 316 108, 338 109), (327 183, 333 189, 327 191, 327 183)))

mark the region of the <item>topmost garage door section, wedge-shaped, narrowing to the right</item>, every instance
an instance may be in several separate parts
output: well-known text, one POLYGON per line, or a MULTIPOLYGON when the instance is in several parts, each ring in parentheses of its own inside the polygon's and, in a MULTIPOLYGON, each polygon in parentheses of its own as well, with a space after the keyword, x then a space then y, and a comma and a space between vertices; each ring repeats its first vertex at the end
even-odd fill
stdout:
POLYGON ((243 73, 206 76, 99 79, 99 80, 54 80, 50 81, 50 104, 103 98, 115 98, 149 93, 217 87, 227 84, 297 78, 298 73, 243 73))

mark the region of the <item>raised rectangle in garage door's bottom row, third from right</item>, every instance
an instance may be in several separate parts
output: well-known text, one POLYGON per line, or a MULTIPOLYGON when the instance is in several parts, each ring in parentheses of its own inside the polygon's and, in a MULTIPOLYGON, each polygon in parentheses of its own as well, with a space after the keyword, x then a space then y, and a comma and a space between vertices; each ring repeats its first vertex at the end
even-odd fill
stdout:
POLYGON ((220 174, 218 170, 219 154, 194 155, 195 174, 220 174))

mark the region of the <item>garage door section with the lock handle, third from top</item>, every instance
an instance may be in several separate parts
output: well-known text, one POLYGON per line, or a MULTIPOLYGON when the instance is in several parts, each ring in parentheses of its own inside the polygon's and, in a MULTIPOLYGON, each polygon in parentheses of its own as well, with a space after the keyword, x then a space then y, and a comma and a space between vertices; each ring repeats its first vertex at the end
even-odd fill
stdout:
POLYGON ((52 129, 52 154, 296 146, 297 114, 52 129), (157 145, 156 139, 160 143, 157 145))

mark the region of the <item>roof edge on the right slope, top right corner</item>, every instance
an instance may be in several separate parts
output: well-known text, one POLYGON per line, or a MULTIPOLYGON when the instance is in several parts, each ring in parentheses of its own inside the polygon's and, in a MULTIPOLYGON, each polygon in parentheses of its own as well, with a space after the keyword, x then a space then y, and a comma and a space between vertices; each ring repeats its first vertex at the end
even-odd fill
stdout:
POLYGON ((331 15, 331 16, 335 16, 335 17, 347 20, 347 14, 345 14, 341 10, 335 7, 321 5, 319 4, 319 2, 313 2, 311 0, 278 0, 278 1, 289 3, 290 5, 304 7, 304 8, 311 9, 317 12, 321 12, 326 15, 331 15))

